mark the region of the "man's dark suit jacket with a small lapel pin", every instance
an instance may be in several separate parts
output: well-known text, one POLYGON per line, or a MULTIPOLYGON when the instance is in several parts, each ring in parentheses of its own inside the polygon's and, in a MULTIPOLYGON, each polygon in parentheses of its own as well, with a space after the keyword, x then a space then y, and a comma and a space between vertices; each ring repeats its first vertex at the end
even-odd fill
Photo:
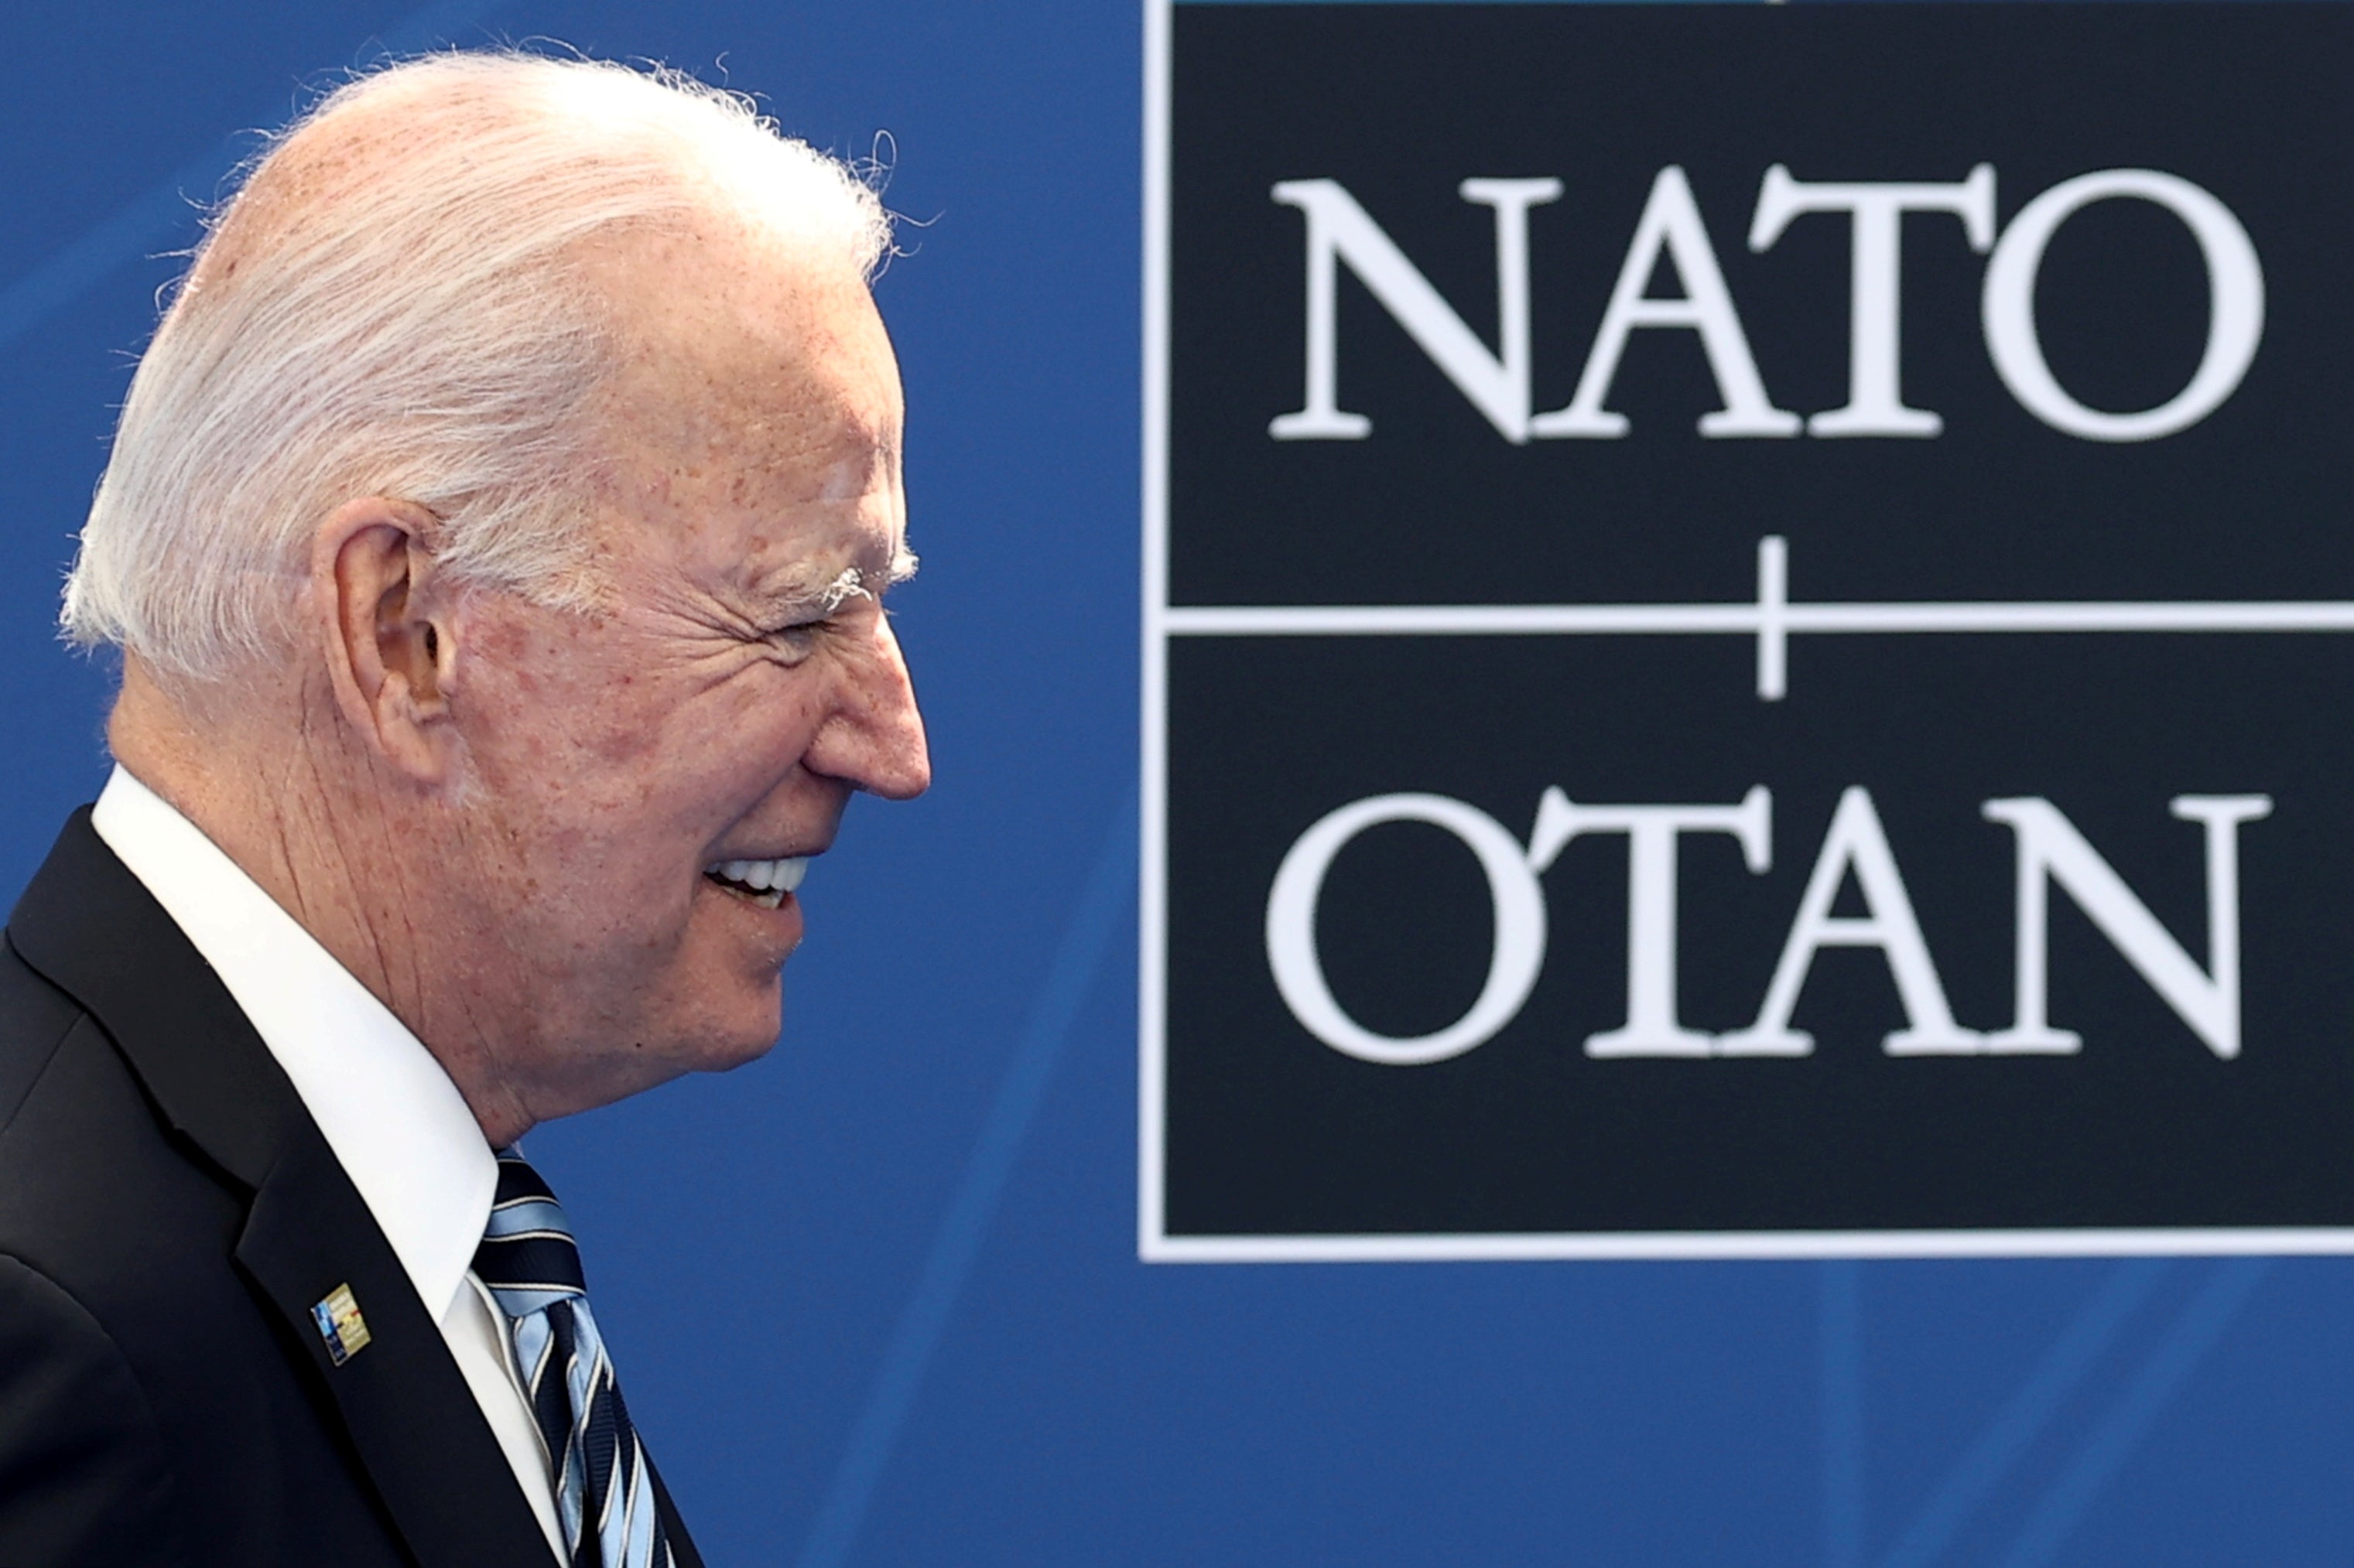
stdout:
POLYGON ((87 810, 0 949, 0 1563, 548 1563, 384 1231, 87 810))

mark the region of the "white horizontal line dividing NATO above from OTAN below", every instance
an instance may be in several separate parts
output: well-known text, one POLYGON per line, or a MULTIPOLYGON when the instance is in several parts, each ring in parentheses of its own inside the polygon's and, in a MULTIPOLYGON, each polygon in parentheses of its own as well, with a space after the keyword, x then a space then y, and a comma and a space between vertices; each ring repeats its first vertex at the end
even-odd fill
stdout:
POLYGON ((1186 605, 1172 636, 1688 636, 1904 631, 2354 631, 2349 600, 1864 605, 1186 605))

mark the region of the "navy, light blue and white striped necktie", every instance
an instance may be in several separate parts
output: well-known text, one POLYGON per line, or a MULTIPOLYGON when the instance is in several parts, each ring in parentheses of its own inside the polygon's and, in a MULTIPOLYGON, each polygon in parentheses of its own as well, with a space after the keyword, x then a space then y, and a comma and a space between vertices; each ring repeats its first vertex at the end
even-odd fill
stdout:
POLYGON ((513 1149, 499 1151, 499 1196, 473 1271, 506 1314, 572 1568, 671 1568, 654 1471, 588 1314, 572 1227, 513 1149))

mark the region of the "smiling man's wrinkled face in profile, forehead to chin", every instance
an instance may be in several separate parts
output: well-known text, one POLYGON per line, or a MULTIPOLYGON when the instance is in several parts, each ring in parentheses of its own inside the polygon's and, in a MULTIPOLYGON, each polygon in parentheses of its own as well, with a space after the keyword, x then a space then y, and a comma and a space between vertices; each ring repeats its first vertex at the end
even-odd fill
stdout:
POLYGON ((880 603, 906 504, 866 287, 685 240, 612 287, 645 306, 598 478, 607 607, 485 596, 459 687, 501 928, 476 989, 525 1003, 487 1034, 541 1114, 767 1050, 850 793, 930 782, 880 603))

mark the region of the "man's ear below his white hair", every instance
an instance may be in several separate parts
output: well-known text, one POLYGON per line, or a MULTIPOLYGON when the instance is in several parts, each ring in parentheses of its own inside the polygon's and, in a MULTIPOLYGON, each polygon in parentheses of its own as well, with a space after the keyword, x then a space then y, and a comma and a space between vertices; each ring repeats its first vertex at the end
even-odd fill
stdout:
POLYGON ((344 720, 419 784, 443 784, 457 760, 450 676, 454 603, 433 567, 433 513, 365 497, 311 537, 311 603, 327 680, 344 720))

